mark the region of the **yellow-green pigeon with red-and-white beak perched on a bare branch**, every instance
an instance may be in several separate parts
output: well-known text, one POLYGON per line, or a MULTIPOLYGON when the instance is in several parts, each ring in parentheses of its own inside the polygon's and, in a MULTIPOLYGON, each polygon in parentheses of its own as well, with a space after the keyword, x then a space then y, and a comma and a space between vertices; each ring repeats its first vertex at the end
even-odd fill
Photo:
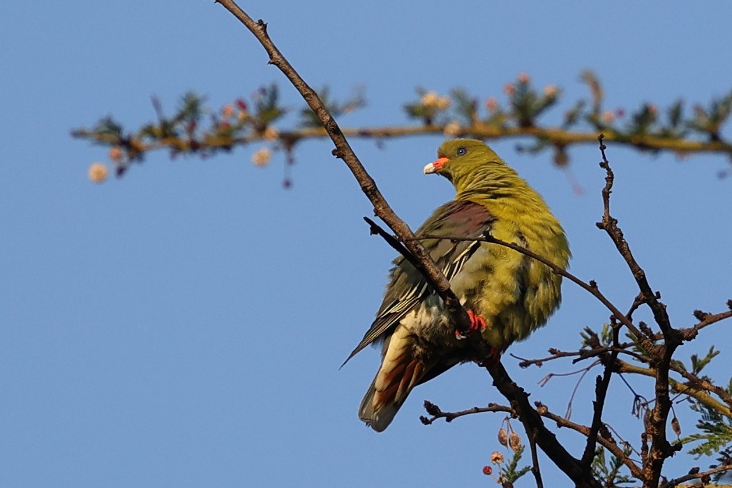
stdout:
MULTIPOLYGON (((489 232, 567 269, 567 237, 542 196, 482 141, 449 139, 437 155, 423 171, 452 182, 455 198, 438 207, 416 234, 444 236, 421 242, 466 308, 471 330, 500 355, 556 311, 561 276, 518 251, 471 239, 489 232)), ((471 341, 463 339, 441 297, 398 256, 376 319, 346 359, 369 344, 381 344, 381 366, 359 406, 359 418, 384 431, 414 387, 476 360, 471 341)))

